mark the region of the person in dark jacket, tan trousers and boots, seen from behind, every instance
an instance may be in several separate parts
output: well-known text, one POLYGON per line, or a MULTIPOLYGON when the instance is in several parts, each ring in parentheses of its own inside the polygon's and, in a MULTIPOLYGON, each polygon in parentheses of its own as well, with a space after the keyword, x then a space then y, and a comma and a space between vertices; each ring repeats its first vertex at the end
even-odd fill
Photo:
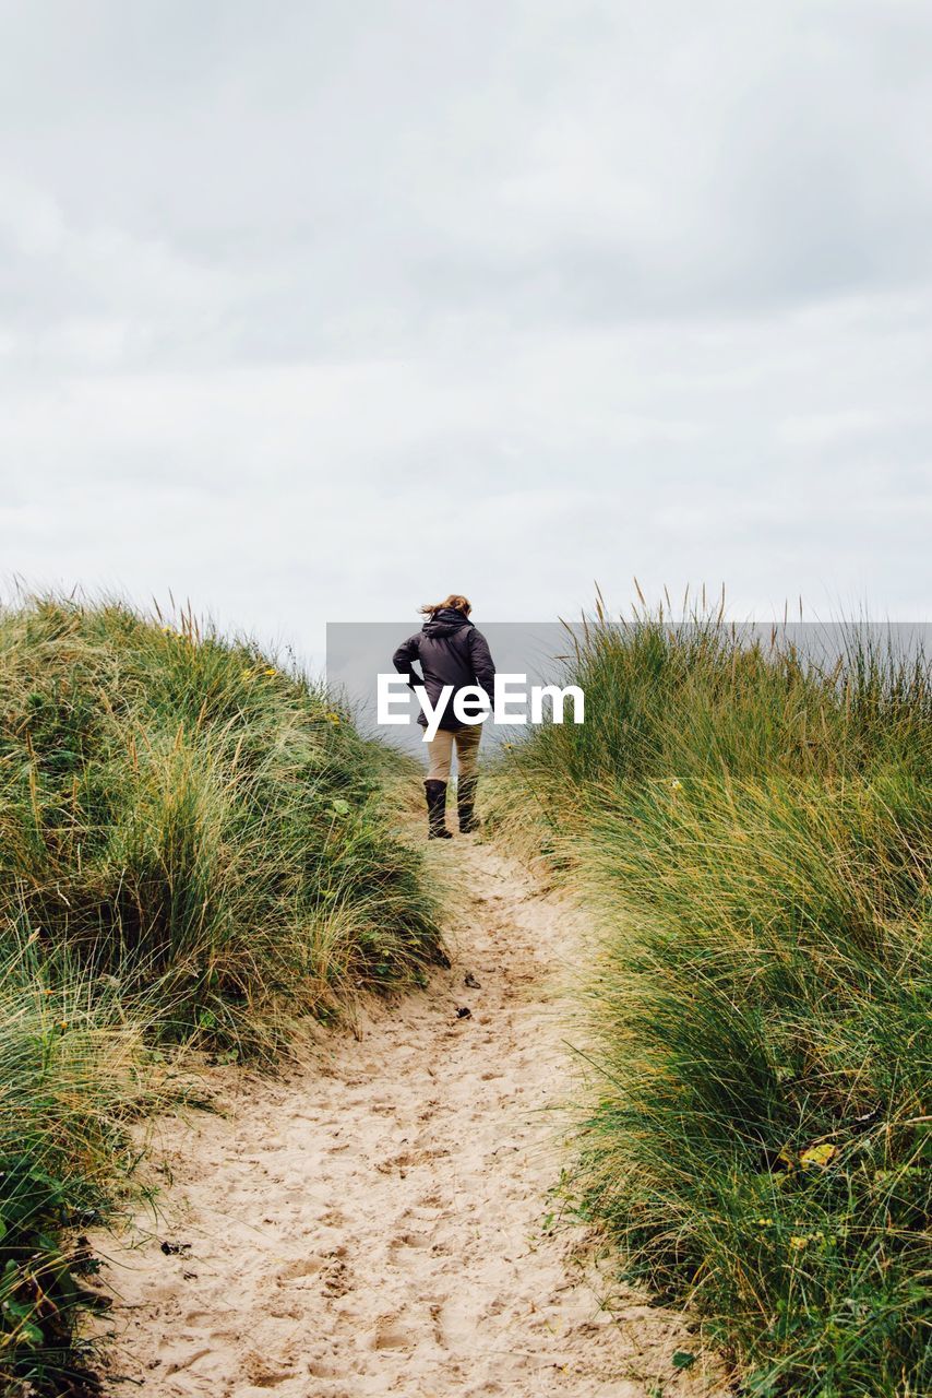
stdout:
MULTIPOLYGON (((423 788, 428 795, 428 839, 430 840, 451 839, 444 812, 454 745, 460 769, 457 774, 460 830, 469 835, 479 828, 474 807, 482 724, 460 723, 453 712, 457 691, 467 685, 478 685, 492 703, 495 665, 485 636, 469 621, 471 611, 468 598, 460 597, 457 593, 451 593, 446 601, 422 607, 421 612, 428 618, 423 626, 398 646, 391 657, 398 674, 407 675, 412 688, 416 684, 423 684, 435 707, 443 686, 454 686, 454 693, 443 710, 436 737, 428 744, 430 765, 423 788), (412 670, 415 660, 421 664, 423 681, 412 670)), ((465 700, 463 707, 471 713, 481 712, 478 700, 474 705, 465 700)), ((423 713, 418 716, 418 723, 426 728, 428 720, 423 713)))

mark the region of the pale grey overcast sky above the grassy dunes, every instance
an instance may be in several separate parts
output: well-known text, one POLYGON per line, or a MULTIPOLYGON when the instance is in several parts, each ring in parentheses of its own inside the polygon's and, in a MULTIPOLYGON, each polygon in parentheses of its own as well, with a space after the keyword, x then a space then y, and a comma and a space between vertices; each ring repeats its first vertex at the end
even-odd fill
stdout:
POLYGON ((0 0, 0 569, 926 619, 928 0, 0 0))

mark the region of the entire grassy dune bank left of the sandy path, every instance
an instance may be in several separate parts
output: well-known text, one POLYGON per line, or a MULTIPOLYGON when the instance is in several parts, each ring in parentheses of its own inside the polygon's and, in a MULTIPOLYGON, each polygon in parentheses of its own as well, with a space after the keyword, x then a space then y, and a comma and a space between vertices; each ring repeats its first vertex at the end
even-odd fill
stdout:
POLYGON ((92 1262, 61 1240, 131 1166, 154 1053, 268 1054, 442 958, 401 777, 190 615, 0 612, 0 1383, 67 1391, 92 1262))

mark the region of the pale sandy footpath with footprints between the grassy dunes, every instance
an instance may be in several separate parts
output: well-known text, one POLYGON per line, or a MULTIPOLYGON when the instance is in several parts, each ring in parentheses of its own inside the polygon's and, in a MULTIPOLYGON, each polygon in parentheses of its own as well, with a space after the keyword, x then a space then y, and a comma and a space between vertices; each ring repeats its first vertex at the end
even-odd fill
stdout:
POLYGON ((109 1394, 721 1391, 672 1367, 696 1348, 676 1317, 630 1293, 599 1309, 578 1237, 548 1232, 571 911, 488 846, 435 857, 471 889, 429 993, 377 1007, 359 1039, 321 1036, 282 1078, 225 1071, 224 1116, 161 1125, 161 1216, 98 1240, 120 1297, 109 1394))

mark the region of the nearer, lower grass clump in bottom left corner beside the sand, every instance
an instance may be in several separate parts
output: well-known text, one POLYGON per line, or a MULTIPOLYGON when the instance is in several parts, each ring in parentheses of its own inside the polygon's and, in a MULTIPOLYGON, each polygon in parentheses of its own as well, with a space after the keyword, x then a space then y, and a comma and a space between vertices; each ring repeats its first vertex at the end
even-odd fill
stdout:
POLYGON ((158 1100, 147 1007, 75 967, 49 973, 36 938, 0 955, 0 1390, 94 1392, 73 1327, 98 1303, 81 1229, 133 1166, 131 1117, 158 1100))

